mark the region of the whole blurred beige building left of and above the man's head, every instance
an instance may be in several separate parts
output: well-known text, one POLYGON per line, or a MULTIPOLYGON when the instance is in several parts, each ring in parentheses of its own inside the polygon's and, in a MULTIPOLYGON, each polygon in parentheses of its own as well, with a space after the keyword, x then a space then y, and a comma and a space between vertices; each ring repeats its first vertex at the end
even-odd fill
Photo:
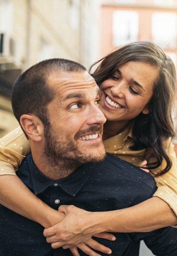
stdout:
POLYGON ((10 92, 22 71, 48 58, 87 68, 98 59, 99 7, 100 0, 0 0, 0 137, 18 126, 10 92))

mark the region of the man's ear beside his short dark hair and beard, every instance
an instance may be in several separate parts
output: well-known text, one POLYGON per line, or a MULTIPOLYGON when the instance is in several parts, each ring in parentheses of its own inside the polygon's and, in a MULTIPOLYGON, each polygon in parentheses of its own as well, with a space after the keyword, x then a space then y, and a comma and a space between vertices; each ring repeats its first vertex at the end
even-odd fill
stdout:
POLYGON ((20 117, 20 124, 29 139, 41 141, 44 126, 39 117, 33 114, 25 114, 20 117))

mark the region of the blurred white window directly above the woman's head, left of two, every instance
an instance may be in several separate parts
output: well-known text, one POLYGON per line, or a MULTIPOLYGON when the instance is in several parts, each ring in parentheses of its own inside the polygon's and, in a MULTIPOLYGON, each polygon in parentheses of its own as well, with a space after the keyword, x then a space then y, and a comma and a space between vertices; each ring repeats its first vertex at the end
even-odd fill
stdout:
POLYGON ((112 39, 114 47, 138 41, 137 11, 114 11, 112 39))

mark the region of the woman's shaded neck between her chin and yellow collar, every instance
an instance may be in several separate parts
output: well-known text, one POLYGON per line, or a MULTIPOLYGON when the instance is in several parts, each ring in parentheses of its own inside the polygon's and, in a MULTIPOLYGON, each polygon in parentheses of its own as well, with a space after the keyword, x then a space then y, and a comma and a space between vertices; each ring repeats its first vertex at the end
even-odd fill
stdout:
POLYGON ((103 125, 103 141, 123 132, 130 121, 106 121, 103 125))

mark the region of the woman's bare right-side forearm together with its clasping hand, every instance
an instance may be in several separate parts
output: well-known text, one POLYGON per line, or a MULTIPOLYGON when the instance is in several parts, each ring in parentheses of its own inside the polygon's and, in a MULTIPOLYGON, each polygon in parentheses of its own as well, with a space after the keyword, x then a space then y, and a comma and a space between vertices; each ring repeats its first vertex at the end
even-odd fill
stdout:
POLYGON ((177 224, 173 210, 158 197, 115 211, 89 212, 75 206, 60 206, 59 210, 65 213, 65 219, 44 230, 44 236, 53 248, 69 248, 78 241, 84 241, 88 234, 93 236, 104 231, 149 232, 177 224))

